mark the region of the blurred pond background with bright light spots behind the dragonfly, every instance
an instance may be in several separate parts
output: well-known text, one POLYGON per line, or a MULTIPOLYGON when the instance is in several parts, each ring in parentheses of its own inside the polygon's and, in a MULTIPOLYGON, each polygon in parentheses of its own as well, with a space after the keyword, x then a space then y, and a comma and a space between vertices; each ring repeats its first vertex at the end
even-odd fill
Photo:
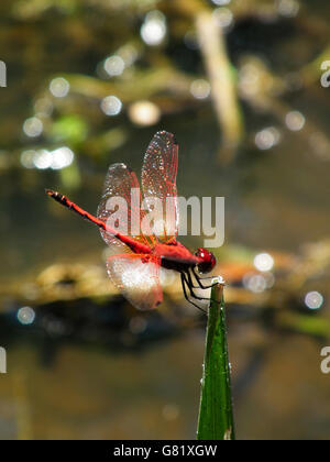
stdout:
MULTIPOLYGON (((2 0, 1 439, 194 439, 206 317, 165 282, 139 312, 107 278, 108 166, 161 129, 182 196, 226 197, 216 250, 240 439, 328 439, 330 4, 2 0)), ((201 238, 183 238, 191 249, 201 238)))

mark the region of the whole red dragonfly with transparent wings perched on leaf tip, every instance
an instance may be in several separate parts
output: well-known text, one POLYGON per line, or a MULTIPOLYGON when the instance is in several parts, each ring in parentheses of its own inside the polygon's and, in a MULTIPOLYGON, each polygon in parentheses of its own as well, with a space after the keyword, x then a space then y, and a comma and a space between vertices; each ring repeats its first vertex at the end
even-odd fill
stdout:
POLYGON ((157 132, 146 150, 142 167, 146 210, 141 209, 141 193, 136 175, 124 164, 113 164, 109 167, 97 217, 72 202, 66 196, 46 189, 50 197, 100 228, 101 235, 110 248, 110 256, 107 260, 110 279, 133 306, 143 310, 156 308, 163 301, 160 283, 161 267, 174 270, 180 274, 185 298, 201 309, 191 298, 195 300, 207 298, 197 296, 194 289, 210 287, 202 284, 200 273, 209 273, 216 265, 216 257, 211 252, 199 248, 194 254, 176 240, 178 233, 177 163, 178 144, 174 135, 165 131, 157 132), (133 196, 132 191, 135 191, 133 196), (134 194, 140 197, 134 197, 134 194), (113 210, 109 210, 107 204, 111 197, 125 199, 128 210, 121 219, 127 221, 128 229, 131 229, 133 219, 138 217, 141 223, 150 211, 153 211, 154 222, 163 223, 162 227, 157 227, 157 230, 153 232, 140 231, 139 235, 123 234, 116 227, 109 227, 108 219, 113 210), (166 213, 164 221, 163 210, 166 210, 168 197, 173 200, 173 209, 172 212, 166 213), (152 208, 151 199, 153 198, 162 201, 163 208, 160 207, 160 212, 152 208))

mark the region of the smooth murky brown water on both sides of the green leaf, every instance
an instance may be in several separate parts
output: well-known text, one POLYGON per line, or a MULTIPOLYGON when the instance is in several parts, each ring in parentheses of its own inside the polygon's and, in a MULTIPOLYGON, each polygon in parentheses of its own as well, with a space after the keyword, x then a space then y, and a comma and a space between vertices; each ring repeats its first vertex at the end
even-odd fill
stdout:
MULTIPOLYGON (((229 341, 240 438, 328 439, 318 342, 253 326, 229 341)), ((201 330, 135 353, 63 344, 47 366, 40 348, 12 346, 1 438, 194 439, 202 350, 201 330)))

